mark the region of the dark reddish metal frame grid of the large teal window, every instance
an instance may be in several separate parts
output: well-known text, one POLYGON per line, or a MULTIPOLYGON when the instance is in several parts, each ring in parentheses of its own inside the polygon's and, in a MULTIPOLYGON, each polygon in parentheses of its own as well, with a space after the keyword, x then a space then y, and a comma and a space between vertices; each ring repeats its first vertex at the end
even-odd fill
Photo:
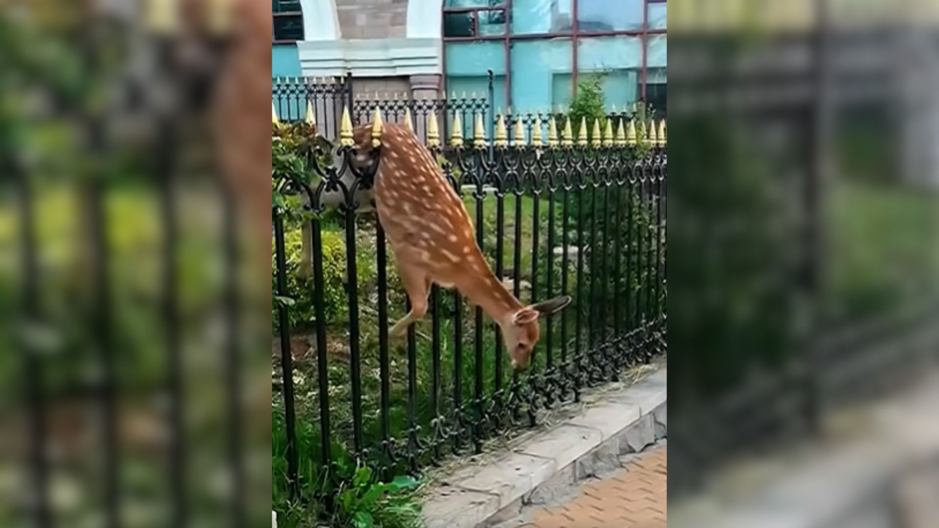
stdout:
POLYGON ((641 40, 641 65, 639 67, 639 101, 645 103, 646 85, 648 80, 648 47, 649 37, 656 35, 668 35, 667 28, 649 27, 649 5, 650 4, 668 4, 668 0, 644 0, 642 3, 642 27, 639 29, 623 29, 611 31, 580 31, 577 23, 577 7, 581 0, 571 0, 571 30, 570 31, 551 31, 546 33, 528 33, 524 35, 515 35, 512 33, 512 8, 513 0, 504 0, 500 6, 487 7, 463 7, 463 8, 442 8, 443 16, 440 17, 440 37, 443 42, 443 56, 441 66, 443 78, 441 79, 441 89, 443 93, 447 91, 447 44, 455 42, 483 42, 492 40, 501 40, 503 56, 505 57, 505 102, 506 106, 512 106, 512 43, 516 40, 540 40, 540 39, 571 39, 571 95, 577 96, 577 73, 579 65, 577 62, 577 50, 580 39, 590 39, 595 37, 639 37, 641 40), (505 33, 503 35, 479 35, 479 11, 502 11, 505 13, 505 33), (445 34, 445 21, 448 14, 470 13, 473 20, 473 36, 471 37, 447 37, 445 34))

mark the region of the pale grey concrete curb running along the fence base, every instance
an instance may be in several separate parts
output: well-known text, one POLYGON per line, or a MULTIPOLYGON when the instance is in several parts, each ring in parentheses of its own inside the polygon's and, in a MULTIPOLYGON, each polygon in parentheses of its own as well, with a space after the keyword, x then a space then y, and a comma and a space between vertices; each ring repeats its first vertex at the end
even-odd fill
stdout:
POLYGON ((428 491, 427 528, 475 528, 513 517, 522 505, 548 503, 577 481, 619 467, 621 455, 664 438, 667 371, 605 395, 485 465, 458 469, 428 491))

